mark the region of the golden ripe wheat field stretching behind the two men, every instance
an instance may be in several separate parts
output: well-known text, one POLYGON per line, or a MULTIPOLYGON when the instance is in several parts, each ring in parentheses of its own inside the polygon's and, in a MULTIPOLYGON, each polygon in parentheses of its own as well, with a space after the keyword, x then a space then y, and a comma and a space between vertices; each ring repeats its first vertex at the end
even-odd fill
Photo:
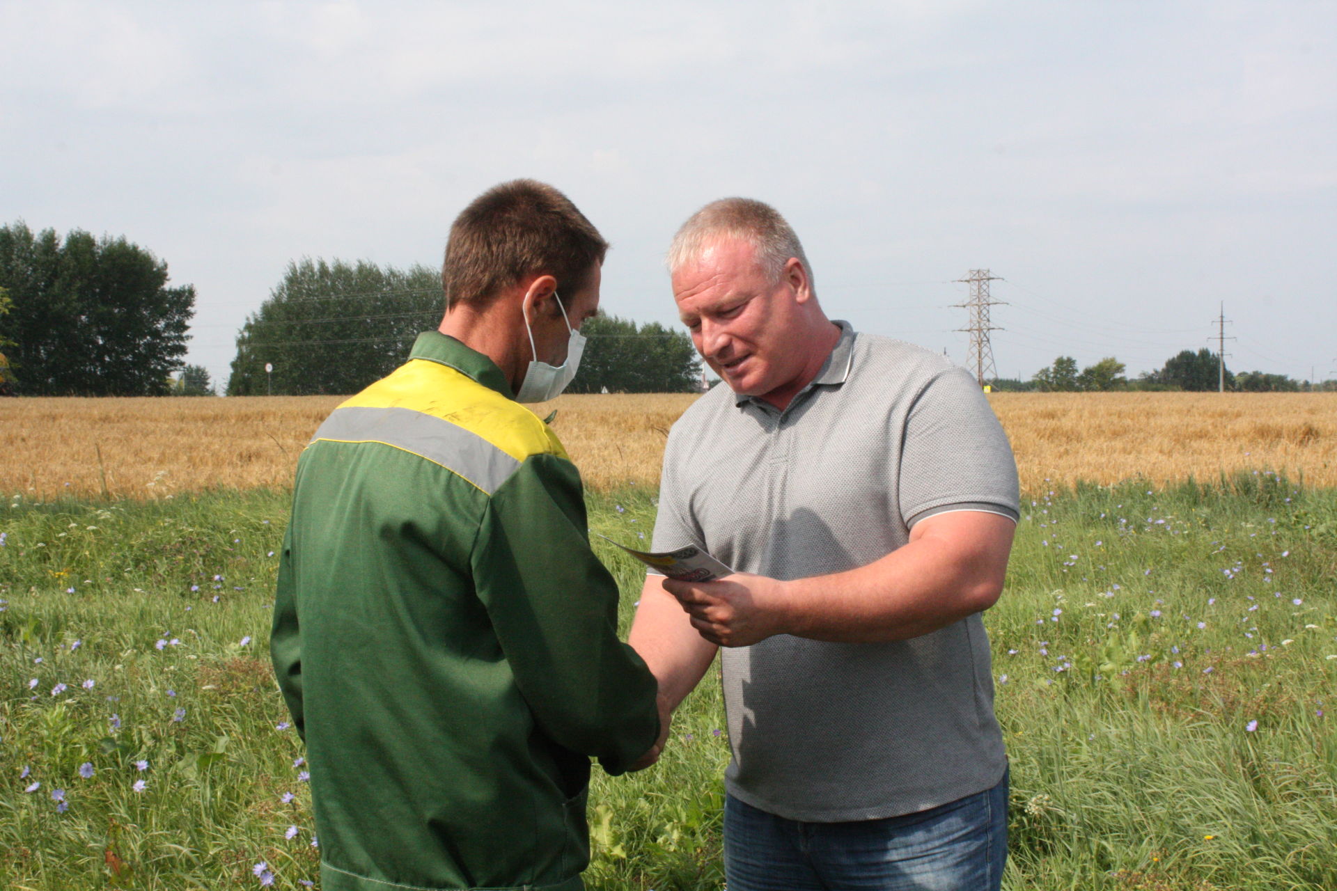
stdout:
MULTIPOLYGON (((694 395, 563 395, 533 406, 586 485, 656 485, 668 427, 694 395)), ((0 399, 0 494, 160 498, 286 488, 341 397, 0 399)), ((1337 486, 1337 394, 995 393, 1021 488, 1278 470, 1337 486)))

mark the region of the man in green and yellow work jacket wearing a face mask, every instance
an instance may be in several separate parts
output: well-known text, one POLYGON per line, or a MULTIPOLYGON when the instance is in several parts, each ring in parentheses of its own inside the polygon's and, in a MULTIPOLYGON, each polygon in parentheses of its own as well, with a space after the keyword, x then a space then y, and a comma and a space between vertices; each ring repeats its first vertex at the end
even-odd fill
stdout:
POLYGON ((451 228, 445 317, 297 466, 270 641, 306 743, 325 891, 578 891, 590 757, 654 760, 554 398, 607 242, 533 180, 451 228))

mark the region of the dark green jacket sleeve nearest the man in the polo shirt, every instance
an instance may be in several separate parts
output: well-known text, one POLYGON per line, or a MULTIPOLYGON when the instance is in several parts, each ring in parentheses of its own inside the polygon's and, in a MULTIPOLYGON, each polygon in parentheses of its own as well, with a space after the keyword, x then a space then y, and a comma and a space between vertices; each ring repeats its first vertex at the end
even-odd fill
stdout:
POLYGON ((659 735, 656 684, 618 639, 618 584, 590 549, 575 465, 532 456, 492 494, 475 586, 540 728, 622 773, 659 735))

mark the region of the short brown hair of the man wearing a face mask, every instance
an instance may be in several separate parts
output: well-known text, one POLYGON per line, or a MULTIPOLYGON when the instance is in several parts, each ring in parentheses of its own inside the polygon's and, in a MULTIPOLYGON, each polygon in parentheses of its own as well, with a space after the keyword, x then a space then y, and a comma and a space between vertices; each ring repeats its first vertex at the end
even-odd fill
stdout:
POLYGON ((445 306, 485 306, 527 275, 552 275, 562 291, 588 285, 608 242, 566 195, 547 183, 493 186, 451 226, 441 264, 445 306))

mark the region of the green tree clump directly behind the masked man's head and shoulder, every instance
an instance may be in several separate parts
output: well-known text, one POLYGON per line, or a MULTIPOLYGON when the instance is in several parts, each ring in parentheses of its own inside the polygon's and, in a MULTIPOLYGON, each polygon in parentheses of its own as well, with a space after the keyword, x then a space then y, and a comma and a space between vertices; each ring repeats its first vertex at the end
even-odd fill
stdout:
POLYGON ((237 334, 227 395, 357 393, 402 365, 441 321, 435 270, 303 258, 237 334))

